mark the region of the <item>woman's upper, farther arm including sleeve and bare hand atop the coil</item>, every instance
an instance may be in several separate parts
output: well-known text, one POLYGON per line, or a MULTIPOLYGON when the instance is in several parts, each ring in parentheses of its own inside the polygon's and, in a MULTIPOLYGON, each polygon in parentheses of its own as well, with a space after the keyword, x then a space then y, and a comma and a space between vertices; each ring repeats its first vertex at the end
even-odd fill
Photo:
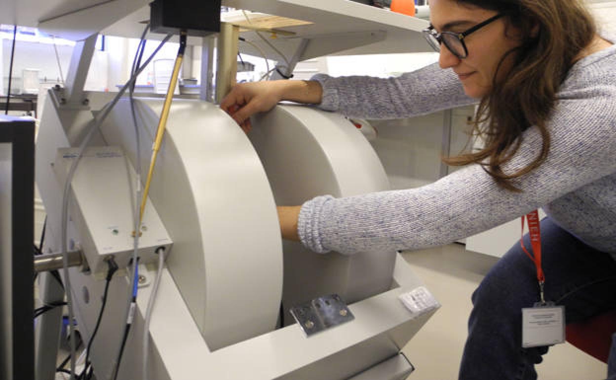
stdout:
POLYGON ((281 100, 367 119, 408 118, 476 102, 464 94, 452 70, 436 64, 397 78, 318 74, 312 79, 237 84, 221 108, 248 131, 251 115, 269 111, 281 100))

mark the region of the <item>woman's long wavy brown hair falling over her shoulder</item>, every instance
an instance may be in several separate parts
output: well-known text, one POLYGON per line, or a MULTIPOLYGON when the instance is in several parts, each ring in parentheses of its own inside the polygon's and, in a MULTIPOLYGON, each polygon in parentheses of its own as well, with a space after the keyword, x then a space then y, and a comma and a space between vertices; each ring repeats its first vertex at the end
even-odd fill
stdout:
POLYGON ((492 91, 479 102, 472 135, 484 140, 484 148, 444 161, 455 166, 479 163, 498 185, 519 191, 511 179, 537 168, 548 156, 547 121, 556 102, 556 92, 575 57, 593 40, 596 25, 580 0, 458 0, 458 3, 505 15, 506 25, 521 31, 522 44, 506 52, 500 60, 497 73, 506 57, 513 57, 514 63, 506 75, 494 76, 492 91), (514 173, 503 172, 503 164, 513 158, 521 145, 519 137, 530 126, 537 127, 541 133, 541 152, 525 168, 514 173))

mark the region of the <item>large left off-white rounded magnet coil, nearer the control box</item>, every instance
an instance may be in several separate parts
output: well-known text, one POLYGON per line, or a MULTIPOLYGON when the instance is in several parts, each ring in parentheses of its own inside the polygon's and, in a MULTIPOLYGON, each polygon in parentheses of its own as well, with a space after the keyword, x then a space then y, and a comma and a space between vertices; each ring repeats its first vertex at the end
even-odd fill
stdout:
MULTIPOLYGON (((163 101, 135 105, 145 176, 163 101)), ((123 100, 101 132, 135 163, 132 124, 123 100)), ((173 101, 150 199, 174 242, 169 272, 209 349, 275 329, 283 275, 274 198, 253 147, 226 113, 208 102, 173 101)))

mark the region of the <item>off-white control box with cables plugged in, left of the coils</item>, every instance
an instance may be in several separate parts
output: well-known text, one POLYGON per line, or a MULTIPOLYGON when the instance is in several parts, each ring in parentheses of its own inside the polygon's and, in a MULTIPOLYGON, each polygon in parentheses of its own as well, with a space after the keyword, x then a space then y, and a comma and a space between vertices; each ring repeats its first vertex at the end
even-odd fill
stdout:
MULTIPOLYGON (((62 188, 78 153, 78 148, 58 150, 54 170, 62 188)), ((136 199, 136 184, 135 171, 119 147, 88 147, 79 160, 68 214, 78 236, 71 238, 83 249, 87 264, 97 276, 107 272, 105 257, 113 255, 120 268, 126 267, 132 257, 135 210, 141 203, 136 199)), ((149 200, 139 233, 140 264, 154 262, 158 247, 169 252, 171 238, 149 200)))

